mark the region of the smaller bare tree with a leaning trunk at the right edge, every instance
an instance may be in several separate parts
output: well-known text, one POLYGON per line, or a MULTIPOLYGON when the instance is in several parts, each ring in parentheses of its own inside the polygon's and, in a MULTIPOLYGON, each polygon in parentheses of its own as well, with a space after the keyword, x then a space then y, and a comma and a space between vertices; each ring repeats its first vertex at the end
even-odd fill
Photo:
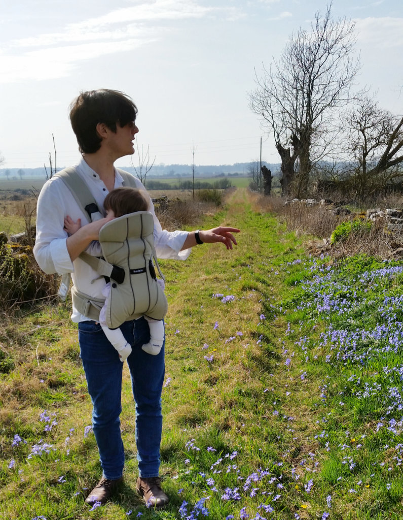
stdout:
POLYGON ((403 118, 381 109, 372 97, 364 96, 347 114, 346 121, 358 195, 366 197, 401 178, 403 118))

